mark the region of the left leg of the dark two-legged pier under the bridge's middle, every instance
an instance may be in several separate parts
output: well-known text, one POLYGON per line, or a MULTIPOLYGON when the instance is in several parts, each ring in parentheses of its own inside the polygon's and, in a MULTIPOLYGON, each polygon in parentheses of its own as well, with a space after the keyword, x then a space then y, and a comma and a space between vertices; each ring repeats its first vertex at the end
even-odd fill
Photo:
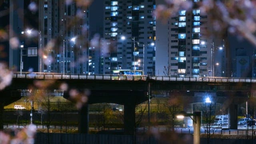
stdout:
POLYGON ((79 110, 79 126, 78 132, 80 134, 88 134, 89 132, 89 105, 84 104, 79 110))

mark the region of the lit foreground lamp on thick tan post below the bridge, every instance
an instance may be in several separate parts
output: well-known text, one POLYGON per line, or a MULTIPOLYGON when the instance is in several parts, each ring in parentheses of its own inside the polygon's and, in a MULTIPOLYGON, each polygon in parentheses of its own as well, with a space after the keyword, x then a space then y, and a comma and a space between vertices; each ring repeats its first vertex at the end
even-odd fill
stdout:
POLYGON ((192 114, 181 112, 177 114, 177 118, 184 118, 185 116, 189 116, 193 120, 193 127, 194 127, 194 135, 193 135, 193 144, 200 144, 200 127, 201 127, 201 116, 202 112, 193 112, 192 114), (191 116, 195 116, 193 119, 191 116))

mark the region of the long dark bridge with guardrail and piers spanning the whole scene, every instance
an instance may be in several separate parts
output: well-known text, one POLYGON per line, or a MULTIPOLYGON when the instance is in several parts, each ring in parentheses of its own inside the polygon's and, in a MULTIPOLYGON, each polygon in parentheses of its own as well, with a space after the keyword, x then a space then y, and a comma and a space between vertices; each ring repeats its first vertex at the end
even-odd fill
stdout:
MULTIPOLYGON (((64 98, 71 101, 70 92, 87 93, 87 104, 108 102, 124 105, 124 127, 126 134, 134 133, 135 105, 152 96, 184 96, 186 102, 199 102, 199 95, 208 93, 215 101, 228 101, 230 109, 230 128, 237 129, 237 106, 255 95, 255 78, 223 77, 170 77, 170 76, 133 76, 106 74, 59 74, 14 72, 12 84, 0 91, 1 110, 3 106, 18 100, 24 90, 63 90, 64 98), (228 100, 227 100, 228 99, 228 100)), ((2 113, 1 113, 2 114, 2 113)), ((1 124, 0 120, 0 124, 1 124)), ((80 109, 80 132, 88 132, 88 105, 80 109)))

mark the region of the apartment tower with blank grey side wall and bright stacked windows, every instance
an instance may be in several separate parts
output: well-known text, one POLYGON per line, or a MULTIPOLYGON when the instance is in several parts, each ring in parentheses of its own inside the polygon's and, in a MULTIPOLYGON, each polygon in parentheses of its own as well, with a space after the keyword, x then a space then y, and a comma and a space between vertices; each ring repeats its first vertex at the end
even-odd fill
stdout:
POLYGON ((167 24, 157 26, 156 63, 160 65, 156 66, 156 75, 198 77, 226 74, 224 40, 209 37, 206 32, 210 29, 208 16, 200 12, 198 2, 193 0, 192 10, 180 10, 168 19, 167 24), (164 30, 168 33, 160 33, 164 30), (163 50, 168 54, 161 55, 163 50), (161 62, 166 56, 168 62, 161 62))

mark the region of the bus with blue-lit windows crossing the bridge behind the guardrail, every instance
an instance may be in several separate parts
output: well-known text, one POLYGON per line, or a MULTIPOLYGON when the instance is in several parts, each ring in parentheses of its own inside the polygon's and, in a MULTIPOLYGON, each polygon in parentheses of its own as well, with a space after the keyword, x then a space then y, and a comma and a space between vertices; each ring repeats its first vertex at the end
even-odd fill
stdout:
POLYGON ((113 80, 127 80, 127 79, 136 79, 142 80, 144 79, 142 70, 113 70, 112 76, 113 80))

